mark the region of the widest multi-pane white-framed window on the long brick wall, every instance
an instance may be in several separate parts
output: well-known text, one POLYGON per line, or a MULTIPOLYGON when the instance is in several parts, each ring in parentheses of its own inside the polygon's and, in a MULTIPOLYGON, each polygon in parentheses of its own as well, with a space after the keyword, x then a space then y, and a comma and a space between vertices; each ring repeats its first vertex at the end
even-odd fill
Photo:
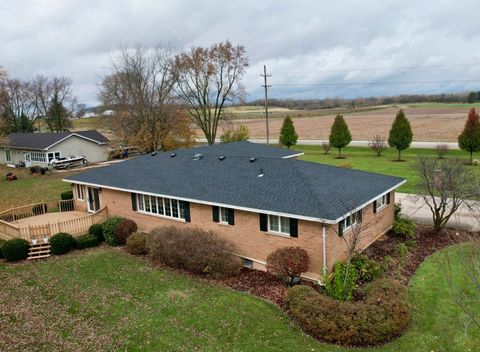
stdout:
POLYGON ((175 219, 185 219, 185 210, 178 199, 162 198, 137 194, 137 211, 142 213, 167 216, 175 219))

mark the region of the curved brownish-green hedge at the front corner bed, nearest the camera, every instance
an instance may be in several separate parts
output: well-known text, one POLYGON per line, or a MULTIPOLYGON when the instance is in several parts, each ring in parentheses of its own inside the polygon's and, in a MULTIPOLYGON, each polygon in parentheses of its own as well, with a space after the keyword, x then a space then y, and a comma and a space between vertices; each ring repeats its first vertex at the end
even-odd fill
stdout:
POLYGON ((399 336, 410 322, 407 288, 391 279, 377 280, 365 300, 343 302, 309 286, 285 295, 290 314, 307 333, 329 343, 373 346, 399 336))

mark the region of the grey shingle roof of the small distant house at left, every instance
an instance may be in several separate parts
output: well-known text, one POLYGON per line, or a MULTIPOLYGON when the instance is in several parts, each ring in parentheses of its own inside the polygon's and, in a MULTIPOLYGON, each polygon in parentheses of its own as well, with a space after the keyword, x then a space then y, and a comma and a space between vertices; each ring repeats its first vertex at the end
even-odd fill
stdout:
POLYGON ((61 133, 10 133, 7 140, 8 146, 12 148, 44 150, 72 134, 92 139, 101 144, 108 142, 108 139, 103 134, 95 130, 61 133))

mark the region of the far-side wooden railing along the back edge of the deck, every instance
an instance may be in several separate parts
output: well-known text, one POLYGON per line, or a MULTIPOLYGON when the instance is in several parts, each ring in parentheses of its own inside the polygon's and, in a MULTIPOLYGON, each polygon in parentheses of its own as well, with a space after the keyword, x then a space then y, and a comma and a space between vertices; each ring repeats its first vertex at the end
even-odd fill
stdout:
POLYGON ((73 199, 55 200, 50 202, 42 202, 24 205, 0 213, 0 220, 12 222, 15 220, 26 219, 32 216, 42 215, 45 213, 55 213, 64 211, 74 211, 75 203, 73 199))

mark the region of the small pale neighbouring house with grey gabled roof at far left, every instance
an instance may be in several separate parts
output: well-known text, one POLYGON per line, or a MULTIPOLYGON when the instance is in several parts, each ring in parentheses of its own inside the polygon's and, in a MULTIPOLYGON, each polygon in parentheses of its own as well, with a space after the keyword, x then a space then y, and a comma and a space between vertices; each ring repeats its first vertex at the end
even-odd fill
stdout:
POLYGON ((11 133, 6 145, 0 146, 0 164, 26 167, 47 166, 52 159, 84 156, 88 162, 107 160, 107 143, 100 132, 11 133))

